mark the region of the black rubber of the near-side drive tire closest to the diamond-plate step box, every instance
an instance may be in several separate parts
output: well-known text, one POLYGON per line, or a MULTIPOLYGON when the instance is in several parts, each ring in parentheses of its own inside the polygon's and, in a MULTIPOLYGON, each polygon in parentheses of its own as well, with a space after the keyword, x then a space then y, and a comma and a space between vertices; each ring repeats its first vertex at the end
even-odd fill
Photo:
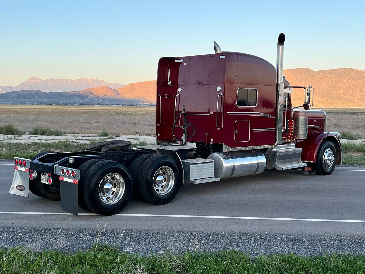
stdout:
POLYGON ((165 205, 176 197, 180 186, 181 175, 176 162, 172 158, 163 155, 153 155, 142 164, 138 175, 138 190, 144 201, 155 205, 165 205), (168 167, 174 175, 174 183, 170 191, 164 195, 158 194, 154 189, 154 175, 161 167, 168 167))

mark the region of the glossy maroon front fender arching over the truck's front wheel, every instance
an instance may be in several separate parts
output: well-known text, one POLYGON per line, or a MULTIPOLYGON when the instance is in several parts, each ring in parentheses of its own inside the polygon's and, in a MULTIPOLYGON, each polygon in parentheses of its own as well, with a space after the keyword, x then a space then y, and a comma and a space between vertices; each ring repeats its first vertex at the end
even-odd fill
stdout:
POLYGON ((307 139, 296 141, 296 147, 303 149, 301 160, 315 163, 319 146, 323 141, 333 142, 336 151, 340 151, 341 143, 333 134, 328 132, 308 132, 307 139))

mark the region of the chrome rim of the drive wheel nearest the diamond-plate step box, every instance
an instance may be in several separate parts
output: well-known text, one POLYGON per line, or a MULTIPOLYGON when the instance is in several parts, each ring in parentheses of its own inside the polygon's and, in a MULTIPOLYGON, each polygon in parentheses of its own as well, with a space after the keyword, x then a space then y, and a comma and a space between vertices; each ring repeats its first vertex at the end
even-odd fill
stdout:
POLYGON ((175 175, 170 167, 160 167, 153 175, 153 188, 157 194, 168 194, 175 183, 175 175))

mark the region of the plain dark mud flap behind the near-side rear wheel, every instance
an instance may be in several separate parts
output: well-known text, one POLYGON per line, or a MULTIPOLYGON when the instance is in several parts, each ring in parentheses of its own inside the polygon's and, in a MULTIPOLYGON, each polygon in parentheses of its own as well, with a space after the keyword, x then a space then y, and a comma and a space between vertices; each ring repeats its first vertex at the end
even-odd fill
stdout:
POLYGON ((61 208, 71 214, 78 216, 77 191, 78 184, 60 181, 61 208))

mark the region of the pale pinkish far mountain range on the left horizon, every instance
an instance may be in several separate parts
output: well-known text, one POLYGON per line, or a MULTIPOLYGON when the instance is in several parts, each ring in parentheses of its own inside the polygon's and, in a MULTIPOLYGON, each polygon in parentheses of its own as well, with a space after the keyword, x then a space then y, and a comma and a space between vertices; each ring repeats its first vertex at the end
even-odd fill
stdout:
POLYGON ((29 78, 16 87, 9 85, 0 86, 0 93, 19 90, 41 90, 43 92, 60 92, 60 91, 80 91, 86 88, 95 88, 107 86, 112 89, 124 87, 124 84, 108 83, 104 80, 80 78, 76 80, 69 79, 46 79, 42 80, 37 77, 29 78))

